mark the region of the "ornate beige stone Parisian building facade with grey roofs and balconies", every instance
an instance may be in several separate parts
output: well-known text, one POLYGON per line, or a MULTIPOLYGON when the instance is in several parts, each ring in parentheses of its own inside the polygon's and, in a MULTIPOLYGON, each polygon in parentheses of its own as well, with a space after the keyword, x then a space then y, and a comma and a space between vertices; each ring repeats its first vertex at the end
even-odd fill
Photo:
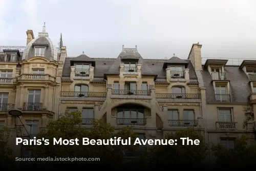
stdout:
POLYGON ((256 61, 204 61, 201 47, 193 44, 187 59, 145 59, 137 46, 123 46, 114 58, 68 57, 45 26, 36 38, 28 30, 26 47, 0 47, 0 124, 14 129, 8 111, 20 109, 36 135, 78 110, 85 128, 103 118, 117 130, 134 125, 143 139, 200 125, 207 143, 232 147, 242 133, 254 141, 256 61))

